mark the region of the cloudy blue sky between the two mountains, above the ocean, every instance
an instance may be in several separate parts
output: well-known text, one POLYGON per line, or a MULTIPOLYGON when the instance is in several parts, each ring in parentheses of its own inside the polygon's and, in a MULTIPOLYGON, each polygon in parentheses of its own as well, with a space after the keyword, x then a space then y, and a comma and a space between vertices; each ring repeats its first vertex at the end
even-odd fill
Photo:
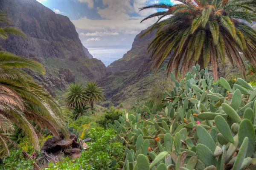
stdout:
POLYGON ((86 48, 131 46, 137 34, 156 20, 140 21, 156 9, 139 8, 172 0, 37 0, 70 18, 86 48))

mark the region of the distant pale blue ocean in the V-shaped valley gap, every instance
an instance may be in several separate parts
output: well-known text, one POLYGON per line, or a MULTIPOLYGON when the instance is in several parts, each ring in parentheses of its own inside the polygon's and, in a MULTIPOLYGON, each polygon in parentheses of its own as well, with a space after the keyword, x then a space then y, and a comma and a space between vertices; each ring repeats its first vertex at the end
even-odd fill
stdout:
POLYGON ((130 46, 87 47, 93 58, 100 59, 106 66, 123 57, 130 46))

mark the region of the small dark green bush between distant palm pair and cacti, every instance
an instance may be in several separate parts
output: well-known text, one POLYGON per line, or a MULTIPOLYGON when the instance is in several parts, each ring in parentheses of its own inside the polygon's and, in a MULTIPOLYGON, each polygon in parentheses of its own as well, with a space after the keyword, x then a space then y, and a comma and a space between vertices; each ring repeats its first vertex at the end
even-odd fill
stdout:
POLYGON ((104 119, 96 121, 96 123, 99 123, 99 125, 102 125, 104 127, 107 127, 109 123, 113 125, 114 120, 118 120, 119 116, 122 116, 122 112, 119 109, 111 107, 109 111, 105 112, 104 119))

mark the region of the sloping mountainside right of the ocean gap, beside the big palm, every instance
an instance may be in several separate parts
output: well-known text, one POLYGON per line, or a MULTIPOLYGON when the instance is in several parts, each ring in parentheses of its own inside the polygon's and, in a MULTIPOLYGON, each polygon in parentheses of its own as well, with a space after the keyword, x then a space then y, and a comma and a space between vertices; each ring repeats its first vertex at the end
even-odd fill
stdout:
POLYGON ((118 105, 121 102, 123 105, 129 105, 137 98, 145 99, 155 83, 166 80, 166 63, 157 74, 150 71, 152 61, 150 54, 147 53, 147 47, 156 32, 153 31, 140 39, 140 35, 146 30, 135 37, 131 50, 124 57, 107 67, 106 77, 100 80, 108 100, 105 105, 118 105))

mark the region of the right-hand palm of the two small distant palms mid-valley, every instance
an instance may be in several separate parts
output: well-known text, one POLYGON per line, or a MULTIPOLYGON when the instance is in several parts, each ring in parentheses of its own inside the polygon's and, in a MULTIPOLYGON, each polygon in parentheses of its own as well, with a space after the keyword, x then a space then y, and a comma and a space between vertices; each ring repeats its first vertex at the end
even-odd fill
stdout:
POLYGON ((97 82, 88 82, 85 87, 85 91, 89 97, 90 107, 93 111, 93 103, 94 102, 103 102, 105 93, 103 92, 103 88, 99 87, 97 82))

